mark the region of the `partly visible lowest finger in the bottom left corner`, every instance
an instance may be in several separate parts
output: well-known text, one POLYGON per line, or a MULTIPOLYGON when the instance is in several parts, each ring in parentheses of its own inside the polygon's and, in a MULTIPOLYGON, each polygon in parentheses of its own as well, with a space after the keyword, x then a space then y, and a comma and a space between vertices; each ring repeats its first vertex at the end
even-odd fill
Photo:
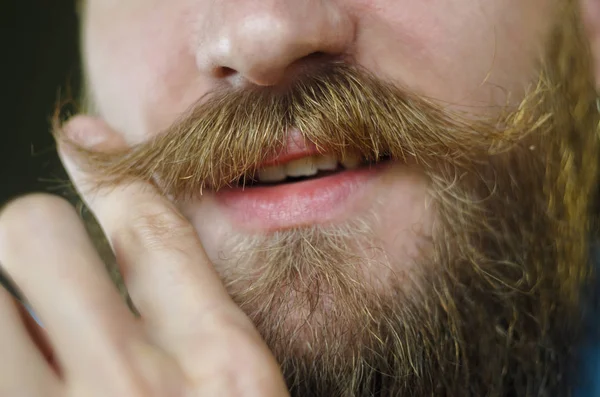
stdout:
POLYGON ((14 299, 0 287, 0 396, 59 396, 62 384, 21 321, 14 299))

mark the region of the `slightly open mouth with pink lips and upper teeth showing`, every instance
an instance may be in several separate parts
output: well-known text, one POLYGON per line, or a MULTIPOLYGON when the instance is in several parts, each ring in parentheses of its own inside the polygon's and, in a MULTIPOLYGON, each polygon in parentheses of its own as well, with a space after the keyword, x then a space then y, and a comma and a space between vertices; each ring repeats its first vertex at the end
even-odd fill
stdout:
POLYGON ((214 198, 233 223, 251 232, 342 222, 371 205, 392 161, 386 155, 320 152, 291 129, 279 153, 214 198))

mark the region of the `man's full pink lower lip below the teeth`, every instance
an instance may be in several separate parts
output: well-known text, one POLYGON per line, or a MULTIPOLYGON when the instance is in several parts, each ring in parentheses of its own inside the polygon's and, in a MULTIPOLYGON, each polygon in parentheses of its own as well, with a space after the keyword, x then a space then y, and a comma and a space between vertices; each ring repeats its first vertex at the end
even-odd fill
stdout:
POLYGON ((273 231, 335 222, 358 207, 385 165, 342 171, 304 182, 230 188, 216 194, 233 221, 247 229, 273 231))

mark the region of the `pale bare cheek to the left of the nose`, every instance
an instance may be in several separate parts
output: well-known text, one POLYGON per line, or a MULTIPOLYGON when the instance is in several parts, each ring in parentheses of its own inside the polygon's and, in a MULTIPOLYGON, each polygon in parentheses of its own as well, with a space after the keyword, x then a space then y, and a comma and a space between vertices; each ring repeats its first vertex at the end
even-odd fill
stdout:
POLYGON ((188 13, 154 3, 102 8, 85 30, 95 108, 130 143, 166 128, 208 86, 197 72, 188 13))

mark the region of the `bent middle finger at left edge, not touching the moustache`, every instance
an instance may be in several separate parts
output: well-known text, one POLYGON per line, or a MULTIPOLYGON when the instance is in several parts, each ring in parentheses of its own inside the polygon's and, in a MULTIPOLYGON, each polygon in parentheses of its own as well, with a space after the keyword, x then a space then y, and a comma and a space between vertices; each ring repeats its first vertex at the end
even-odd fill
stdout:
POLYGON ((64 372, 88 382, 113 378, 102 371, 124 361, 139 329, 75 210, 48 195, 10 203, 0 214, 0 261, 44 324, 64 372))

